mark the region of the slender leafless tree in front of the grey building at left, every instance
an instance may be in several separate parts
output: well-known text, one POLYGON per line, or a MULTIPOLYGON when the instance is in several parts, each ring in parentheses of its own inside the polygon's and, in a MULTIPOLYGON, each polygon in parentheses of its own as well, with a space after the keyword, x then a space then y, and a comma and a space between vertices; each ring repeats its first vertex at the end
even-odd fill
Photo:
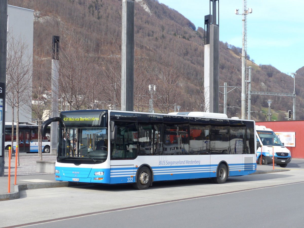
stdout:
MULTIPOLYGON (((28 52, 26 43, 20 37, 10 36, 10 33, 8 33, 7 47, 6 99, 12 108, 12 134, 14 134, 14 108, 16 107, 16 146, 18 146, 19 109, 31 100, 32 53, 28 52)), ((17 150, 16 159, 19 166, 19 150, 17 150)))

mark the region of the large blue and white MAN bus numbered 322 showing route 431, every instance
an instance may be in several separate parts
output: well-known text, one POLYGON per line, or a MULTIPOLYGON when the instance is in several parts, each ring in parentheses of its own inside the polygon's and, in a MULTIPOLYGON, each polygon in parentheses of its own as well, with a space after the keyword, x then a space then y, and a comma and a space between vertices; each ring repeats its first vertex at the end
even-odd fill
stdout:
POLYGON ((59 122, 58 181, 146 189, 153 181, 191 178, 221 184, 228 176, 256 171, 252 120, 203 112, 75 110, 45 121, 43 136, 54 121, 59 122))

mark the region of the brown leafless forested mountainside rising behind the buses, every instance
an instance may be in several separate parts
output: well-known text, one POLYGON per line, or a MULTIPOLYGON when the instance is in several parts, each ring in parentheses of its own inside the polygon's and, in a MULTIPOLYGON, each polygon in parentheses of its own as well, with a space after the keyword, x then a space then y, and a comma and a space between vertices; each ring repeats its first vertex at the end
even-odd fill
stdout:
MULTIPOLYGON (((8 0, 8 4, 34 10, 33 98, 51 90, 55 35, 60 36, 60 110, 120 109, 122 0, 8 0)), ((180 105, 183 112, 206 109, 203 28, 196 28, 157 0, 136 0, 134 46, 134 110, 148 111, 149 85, 156 88, 155 112, 173 112, 174 105, 180 105)), ((219 46, 219 110, 223 113, 226 82, 227 91, 231 90, 227 115, 240 117, 241 48, 225 41, 219 46)), ((292 77, 271 65, 255 64, 248 49, 253 91, 293 93, 292 77)), ((303 120, 304 67, 296 73, 296 119, 303 120)), ((269 95, 251 95, 251 119, 268 119, 268 99, 273 100, 272 120, 287 120, 292 97, 269 95)), ((49 105, 48 100, 45 105, 49 105)))

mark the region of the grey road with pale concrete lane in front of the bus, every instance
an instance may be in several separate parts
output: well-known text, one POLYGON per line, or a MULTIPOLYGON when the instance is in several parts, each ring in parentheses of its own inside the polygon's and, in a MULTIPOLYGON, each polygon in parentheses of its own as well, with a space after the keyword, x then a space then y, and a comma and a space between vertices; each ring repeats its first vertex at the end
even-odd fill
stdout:
POLYGON ((5 218, 0 223, 7 227, 302 227, 303 164, 303 159, 294 159, 287 167, 290 171, 229 177, 222 185, 188 180, 157 182, 143 191, 130 185, 25 190, 19 199, 0 202, 0 215, 5 218))

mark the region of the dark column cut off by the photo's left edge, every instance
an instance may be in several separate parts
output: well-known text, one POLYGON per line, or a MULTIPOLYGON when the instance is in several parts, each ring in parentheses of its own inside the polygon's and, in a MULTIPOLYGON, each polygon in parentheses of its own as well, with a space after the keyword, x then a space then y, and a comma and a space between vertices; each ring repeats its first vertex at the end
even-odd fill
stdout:
POLYGON ((7 0, 0 1, 0 177, 4 177, 7 0))

